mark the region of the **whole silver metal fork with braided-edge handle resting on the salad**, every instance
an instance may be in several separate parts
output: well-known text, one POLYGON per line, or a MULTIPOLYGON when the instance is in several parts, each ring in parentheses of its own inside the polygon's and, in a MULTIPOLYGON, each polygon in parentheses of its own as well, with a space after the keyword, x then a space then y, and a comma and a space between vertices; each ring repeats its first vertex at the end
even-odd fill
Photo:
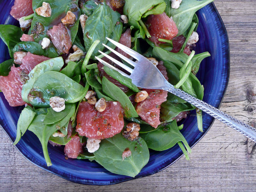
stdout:
POLYGON ((118 55, 121 59, 125 60, 125 62, 129 63, 134 68, 130 68, 127 65, 112 58, 111 56, 105 54, 104 52, 99 51, 102 55, 110 59, 115 64, 119 65, 121 68, 125 69, 131 75, 128 75, 122 72, 121 70, 119 70, 118 68, 115 68, 114 66, 103 61, 102 59, 95 57, 103 65, 118 71, 121 75, 125 77, 131 78, 132 83, 137 87, 165 90, 178 96, 179 98, 184 99, 188 103, 194 105, 195 107, 199 108, 200 110, 204 111, 210 116, 216 118, 217 120, 220 120, 224 124, 230 126, 234 130, 238 131, 239 133, 243 134, 244 136, 256 142, 256 129, 254 127, 251 127, 248 124, 245 124, 240 120, 237 120, 236 118, 220 111, 219 109, 211 106, 210 104, 205 103, 204 101, 194 98, 192 95, 187 94, 186 92, 180 89, 174 88, 174 86, 171 85, 164 78, 164 76, 161 74, 158 68, 154 66, 153 63, 151 63, 144 56, 140 55, 138 52, 135 52, 134 50, 129 49, 128 47, 118 42, 115 42, 112 39, 109 39, 109 38, 107 39, 108 41, 112 42, 115 46, 117 46, 118 48, 126 52, 128 55, 131 55, 131 57, 138 60, 138 62, 134 62, 131 59, 128 59, 124 55, 121 55, 120 53, 116 52, 114 49, 111 49, 110 47, 103 44, 103 46, 111 50, 113 53, 118 55))

